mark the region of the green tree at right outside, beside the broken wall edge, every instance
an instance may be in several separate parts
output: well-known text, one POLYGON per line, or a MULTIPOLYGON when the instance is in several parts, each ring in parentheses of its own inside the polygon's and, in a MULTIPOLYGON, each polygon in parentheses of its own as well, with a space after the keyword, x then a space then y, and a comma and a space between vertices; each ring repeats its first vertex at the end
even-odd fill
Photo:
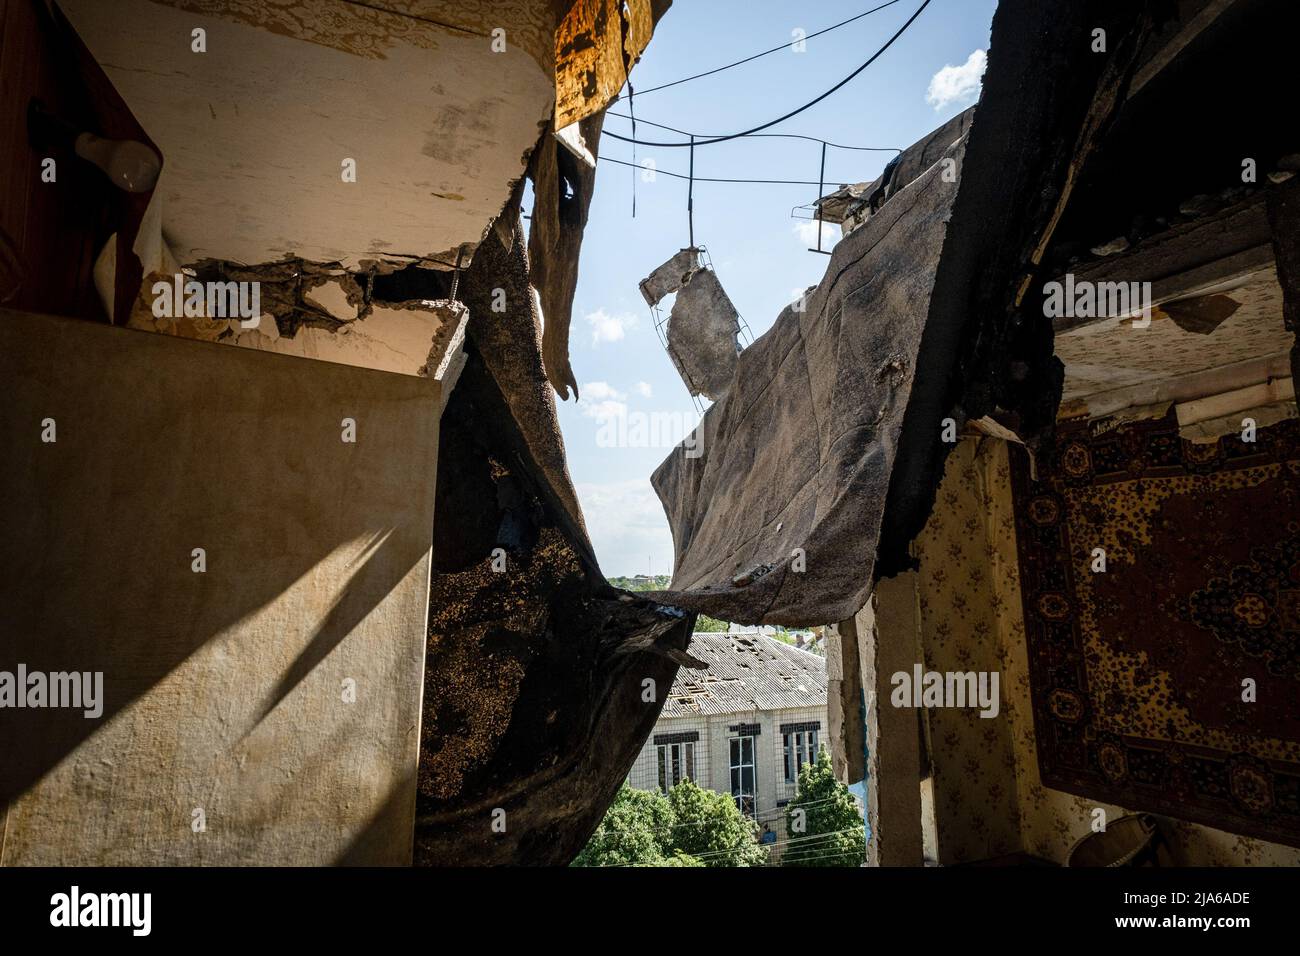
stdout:
POLYGON ((783 866, 861 866, 866 860, 862 810, 835 779, 824 747, 800 771, 798 790, 785 806, 785 832, 783 866))

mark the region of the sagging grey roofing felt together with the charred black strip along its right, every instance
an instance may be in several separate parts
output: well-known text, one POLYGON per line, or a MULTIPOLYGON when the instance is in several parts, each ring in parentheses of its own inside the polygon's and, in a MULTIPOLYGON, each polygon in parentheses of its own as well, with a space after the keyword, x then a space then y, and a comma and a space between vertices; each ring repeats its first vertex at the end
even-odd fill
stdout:
POLYGON ((738 623, 846 620, 911 563, 952 447, 944 419, 1000 412, 1031 446, 1049 434, 1061 367, 1024 291, 1149 22, 1145 4, 1112 0, 998 5, 970 130, 887 183, 805 311, 788 306, 741 354, 689 450, 655 471, 676 558, 655 600, 738 623))

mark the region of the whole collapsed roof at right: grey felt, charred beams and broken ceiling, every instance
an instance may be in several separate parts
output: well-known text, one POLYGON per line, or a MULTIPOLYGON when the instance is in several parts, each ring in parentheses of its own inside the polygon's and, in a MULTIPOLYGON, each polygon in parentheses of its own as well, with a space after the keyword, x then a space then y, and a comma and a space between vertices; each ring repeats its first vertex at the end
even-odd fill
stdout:
POLYGON ((1251 94, 1283 82, 1258 26, 1279 7, 1004 0, 978 107, 822 204, 850 228, 806 311, 741 354, 690 454, 655 472, 676 551, 655 597, 741 623, 852 618, 911 566, 958 432, 1040 449, 1063 385, 1065 414, 1239 388, 1179 408, 1192 440, 1216 415, 1290 414, 1274 376, 1296 362, 1295 302, 1286 325, 1251 321, 1295 268, 1300 156, 1251 94), (1209 107, 1213 148, 1195 122, 1209 107), (1180 160, 1143 174, 1152 143, 1180 160), (1070 269, 1100 289, 1154 280, 1167 321, 1139 339, 1114 334, 1127 312, 1053 320, 1048 284, 1070 269))

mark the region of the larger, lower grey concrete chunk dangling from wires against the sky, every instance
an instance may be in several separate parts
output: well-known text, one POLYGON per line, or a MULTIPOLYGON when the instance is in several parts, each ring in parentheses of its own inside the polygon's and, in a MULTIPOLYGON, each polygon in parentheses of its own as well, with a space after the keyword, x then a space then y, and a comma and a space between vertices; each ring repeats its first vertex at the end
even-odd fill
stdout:
POLYGON ((668 317, 668 355, 692 395, 727 394, 740 354, 740 313, 712 269, 685 277, 668 317))

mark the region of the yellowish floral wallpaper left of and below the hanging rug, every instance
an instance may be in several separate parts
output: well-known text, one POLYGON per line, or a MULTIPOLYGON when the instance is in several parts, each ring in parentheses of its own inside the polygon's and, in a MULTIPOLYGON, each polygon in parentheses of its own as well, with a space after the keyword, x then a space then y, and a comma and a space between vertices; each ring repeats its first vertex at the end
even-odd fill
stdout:
MULTIPOLYGON (((935 511, 914 545, 928 670, 997 670, 996 718, 927 710, 935 852, 941 864, 1024 852, 1063 864, 1091 832, 1093 810, 1131 810, 1045 787, 1030 704, 1008 445, 963 438, 948 460, 935 511)), ((1161 817, 1174 862, 1300 865, 1300 849, 1161 817)))

